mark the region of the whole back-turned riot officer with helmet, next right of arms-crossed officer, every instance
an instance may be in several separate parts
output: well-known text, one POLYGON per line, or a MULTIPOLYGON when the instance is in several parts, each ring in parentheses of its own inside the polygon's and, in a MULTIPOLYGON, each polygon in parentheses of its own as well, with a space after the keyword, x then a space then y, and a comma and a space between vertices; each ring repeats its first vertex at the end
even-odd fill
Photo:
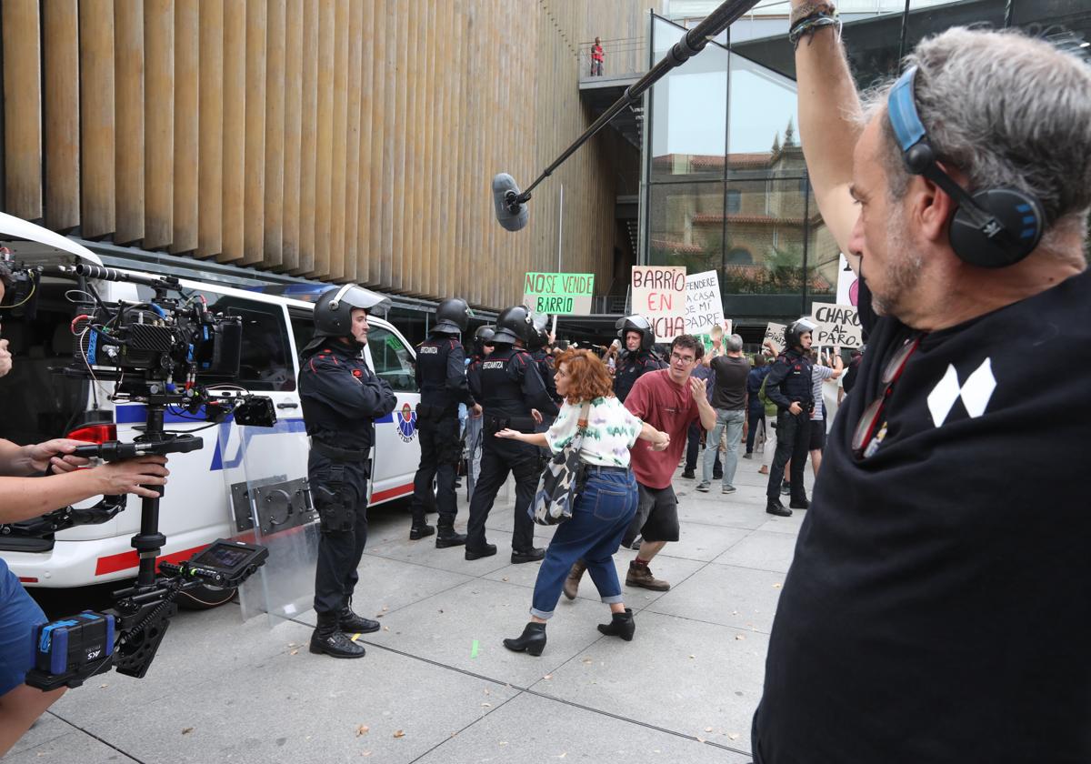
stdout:
POLYGON ((461 456, 458 432, 458 404, 464 403, 473 417, 481 406, 473 402, 466 383, 466 356, 458 338, 470 320, 466 300, 444 300, 435 309, 435 325, 428 339, 417 346, 417 431, 420 433, 420 467, 413 478, 412 527, 409 538, 431 536, 435 528, 424 520, 432 504, 432 479, 436 479, 435 503, 440 512, 436 549, 458 547, 466 536, 455 533, 455 473, 461 456))

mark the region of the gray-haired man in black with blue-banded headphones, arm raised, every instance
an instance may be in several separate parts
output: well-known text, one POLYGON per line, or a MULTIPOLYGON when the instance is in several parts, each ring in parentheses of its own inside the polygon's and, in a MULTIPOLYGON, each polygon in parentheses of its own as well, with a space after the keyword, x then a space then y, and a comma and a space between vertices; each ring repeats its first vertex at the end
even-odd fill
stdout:
POLYGON ((801 143, 867 351, 780 593, 755 762, 1091 761, 1091 69, 952 28, 861 105, 832 3, 792 5, 801 143))

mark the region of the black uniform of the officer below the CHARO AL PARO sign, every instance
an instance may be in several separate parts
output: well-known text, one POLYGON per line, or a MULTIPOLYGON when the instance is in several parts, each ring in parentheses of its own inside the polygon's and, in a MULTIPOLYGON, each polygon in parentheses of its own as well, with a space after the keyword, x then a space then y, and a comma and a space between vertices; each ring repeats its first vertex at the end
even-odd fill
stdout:
POLYGON ((807 462, 807 445, 811 442, 811 410, 814 406, 814 386, 811 374, 811 359, 802 350, 791 348, 780 354, 772 363, 772 370, 765 381, 765 394, 777 404, 777 453, 769 469, 769 501, 780 501, 780 481, 784 477, 784 465, 792 459, 792 504, 806 504, 803 490, 803 467, 807 462), (789 411, 793 401, 803 410, 789 411))

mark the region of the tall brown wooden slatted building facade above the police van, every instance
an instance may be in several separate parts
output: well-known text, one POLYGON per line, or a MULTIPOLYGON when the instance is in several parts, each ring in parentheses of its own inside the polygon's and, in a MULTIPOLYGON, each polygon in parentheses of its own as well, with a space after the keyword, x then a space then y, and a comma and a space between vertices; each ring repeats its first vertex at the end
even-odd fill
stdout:
MULTIPOLYGON (((640 0, 3 0, 3 211, 180 256, 463 296, 526 271, 611 277, 603 135, 493 216, 590 123, 579 40, 643 38, 640 0)), ((633 69, 640 68, 634 53, 633 69)))

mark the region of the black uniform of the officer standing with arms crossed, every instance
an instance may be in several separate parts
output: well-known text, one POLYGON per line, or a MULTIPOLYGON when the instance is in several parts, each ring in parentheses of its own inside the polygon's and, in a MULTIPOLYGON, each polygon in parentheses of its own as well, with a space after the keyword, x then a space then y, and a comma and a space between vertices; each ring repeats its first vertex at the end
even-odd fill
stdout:
POLYGON ((314 576, 319 618, 349 605, 368 541, 368 455, 374 420, 397 399, 355 344, 331 338, 300 359, 299 397, 311 454, 307 474, 322 523, 314 576))

